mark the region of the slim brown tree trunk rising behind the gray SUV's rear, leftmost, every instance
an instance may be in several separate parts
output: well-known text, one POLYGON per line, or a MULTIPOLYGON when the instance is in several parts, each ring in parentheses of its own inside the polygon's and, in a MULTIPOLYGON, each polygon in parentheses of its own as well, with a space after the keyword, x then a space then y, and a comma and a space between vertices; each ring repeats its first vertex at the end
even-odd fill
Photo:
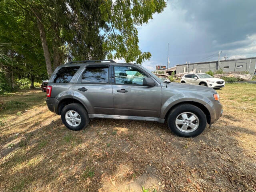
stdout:
POLYGON ((45 62, 46 62, 46 69, 47 69, 48 77, 50 78, 50 76, 52 75, 52 64, 51 64, 51 58, 50 58, 50 53, 49 53, 49 49, 48 49, 48 44, 47 44, 47 41, 46 41, 44 26, 43 26, 42 22, 38 19, 37 19, 37 23, 38 23, 38 28, 39 28, 39 32, 40 32, 42 47, 43 47, 43 50, 44 50, 44 58, 45 58, 45 62))

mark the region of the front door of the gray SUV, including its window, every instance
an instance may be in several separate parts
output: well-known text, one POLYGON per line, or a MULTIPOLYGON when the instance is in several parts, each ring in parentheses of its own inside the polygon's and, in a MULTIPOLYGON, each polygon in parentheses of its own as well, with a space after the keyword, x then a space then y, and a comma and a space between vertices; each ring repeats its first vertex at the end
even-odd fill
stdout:
POLYGON ((162 88, 143 86, 145 77, 150 77, 141 68, 131 64, 112 64, 112 90, 114 114, 122 116, 159 117, 162 88))

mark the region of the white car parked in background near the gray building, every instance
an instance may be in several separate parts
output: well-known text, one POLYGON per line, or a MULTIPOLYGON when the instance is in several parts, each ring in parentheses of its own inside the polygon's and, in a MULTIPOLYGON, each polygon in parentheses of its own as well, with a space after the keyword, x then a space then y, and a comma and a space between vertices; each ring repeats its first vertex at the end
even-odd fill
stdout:
POLYGON ((212 88, 222 88, 225 86, 225 81, 220 78, 214 78, 206 73, 190 73, 182 76, 181 83, 201 85, 212 88))

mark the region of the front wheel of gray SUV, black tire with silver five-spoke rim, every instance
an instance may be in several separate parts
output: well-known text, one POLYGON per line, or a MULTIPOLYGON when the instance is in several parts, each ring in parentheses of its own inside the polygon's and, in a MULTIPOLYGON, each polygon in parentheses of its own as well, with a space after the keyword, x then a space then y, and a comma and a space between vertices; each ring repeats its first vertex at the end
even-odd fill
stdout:
POLYGON ((168 127, 170 128, 170 130, 178 136, 195 137, 204 131, 206 124, 207 124, 207 120, 206 120, 206 115, 204 114, 204 112, 197 106, 194 106, 192 104, 180 104, 180 105, 176 106, 174 109, 172 109, 172 111, 168 115, 167 124, 168 124, 168 127), (182 114, 182 116, 181 116, 181 114, 182 114), (187 120, 183 119, 184 114, 186 114, 186 116, 188 117, 187 120), (194 116, 194 117, 192 117, 192 116, 194 116), (197 119, 193 120, 194 118, 197 118, 197 119), (189 121, 189 119, 190 119, 190 121, 189 121), (193 120, 193 121, 191 121, 191 120, 193 120), (178 123, 178 125, 176 123, 178 123), (190 125, 188 125, 188 124, 190 124, 190 125), (187 130, 185 130, 186 125, 187 125, 187 130), (193 127, 194 127, 194 125, 196 125, 197 127, 194 127, 194 129, 193 129, 192 125, 193 125, 193 127), (183 128, 183 126, 184 126, 184 128, 183 128), (182 128, 183 128, 183 130, 182 130, 182 128))

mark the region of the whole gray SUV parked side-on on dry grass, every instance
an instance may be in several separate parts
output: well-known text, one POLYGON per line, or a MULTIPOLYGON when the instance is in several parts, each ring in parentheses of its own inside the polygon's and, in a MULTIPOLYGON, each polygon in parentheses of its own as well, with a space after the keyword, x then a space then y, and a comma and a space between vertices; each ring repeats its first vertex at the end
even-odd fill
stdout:
POLYGON ((209 87, 163 81, 139 64, 112 60, 69 62, 56 68, 46 88, 49 110, 71 130, 90 118, 167 122, 179 136, 197 136, 222 116, 209 87))

